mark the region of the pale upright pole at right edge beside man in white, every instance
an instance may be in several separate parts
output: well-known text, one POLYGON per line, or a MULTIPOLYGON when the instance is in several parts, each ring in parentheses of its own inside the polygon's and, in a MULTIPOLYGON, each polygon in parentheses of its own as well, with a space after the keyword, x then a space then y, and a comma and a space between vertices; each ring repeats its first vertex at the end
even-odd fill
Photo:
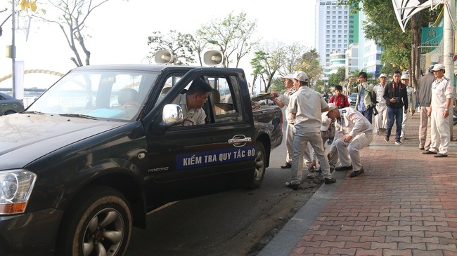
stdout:
MULTIPOLYGON (((443 36, 444 36, 444 48, 443 48, 443 64, 446 70, 446 77, 451 82, 452 86, 454 74, 453 74, 453 50, 454 44, 454 29, 453 19, 456 17, 455 0, 447 0, 444 4, 444 21, 443 21, 443 36)), ((455 88, 454 88, 455 90, 455 88)), ((449 107, 449 129, 451 131, 451 140, 453 135, 453 103, 454 98, 451 99, 451 106, 449 107)))

